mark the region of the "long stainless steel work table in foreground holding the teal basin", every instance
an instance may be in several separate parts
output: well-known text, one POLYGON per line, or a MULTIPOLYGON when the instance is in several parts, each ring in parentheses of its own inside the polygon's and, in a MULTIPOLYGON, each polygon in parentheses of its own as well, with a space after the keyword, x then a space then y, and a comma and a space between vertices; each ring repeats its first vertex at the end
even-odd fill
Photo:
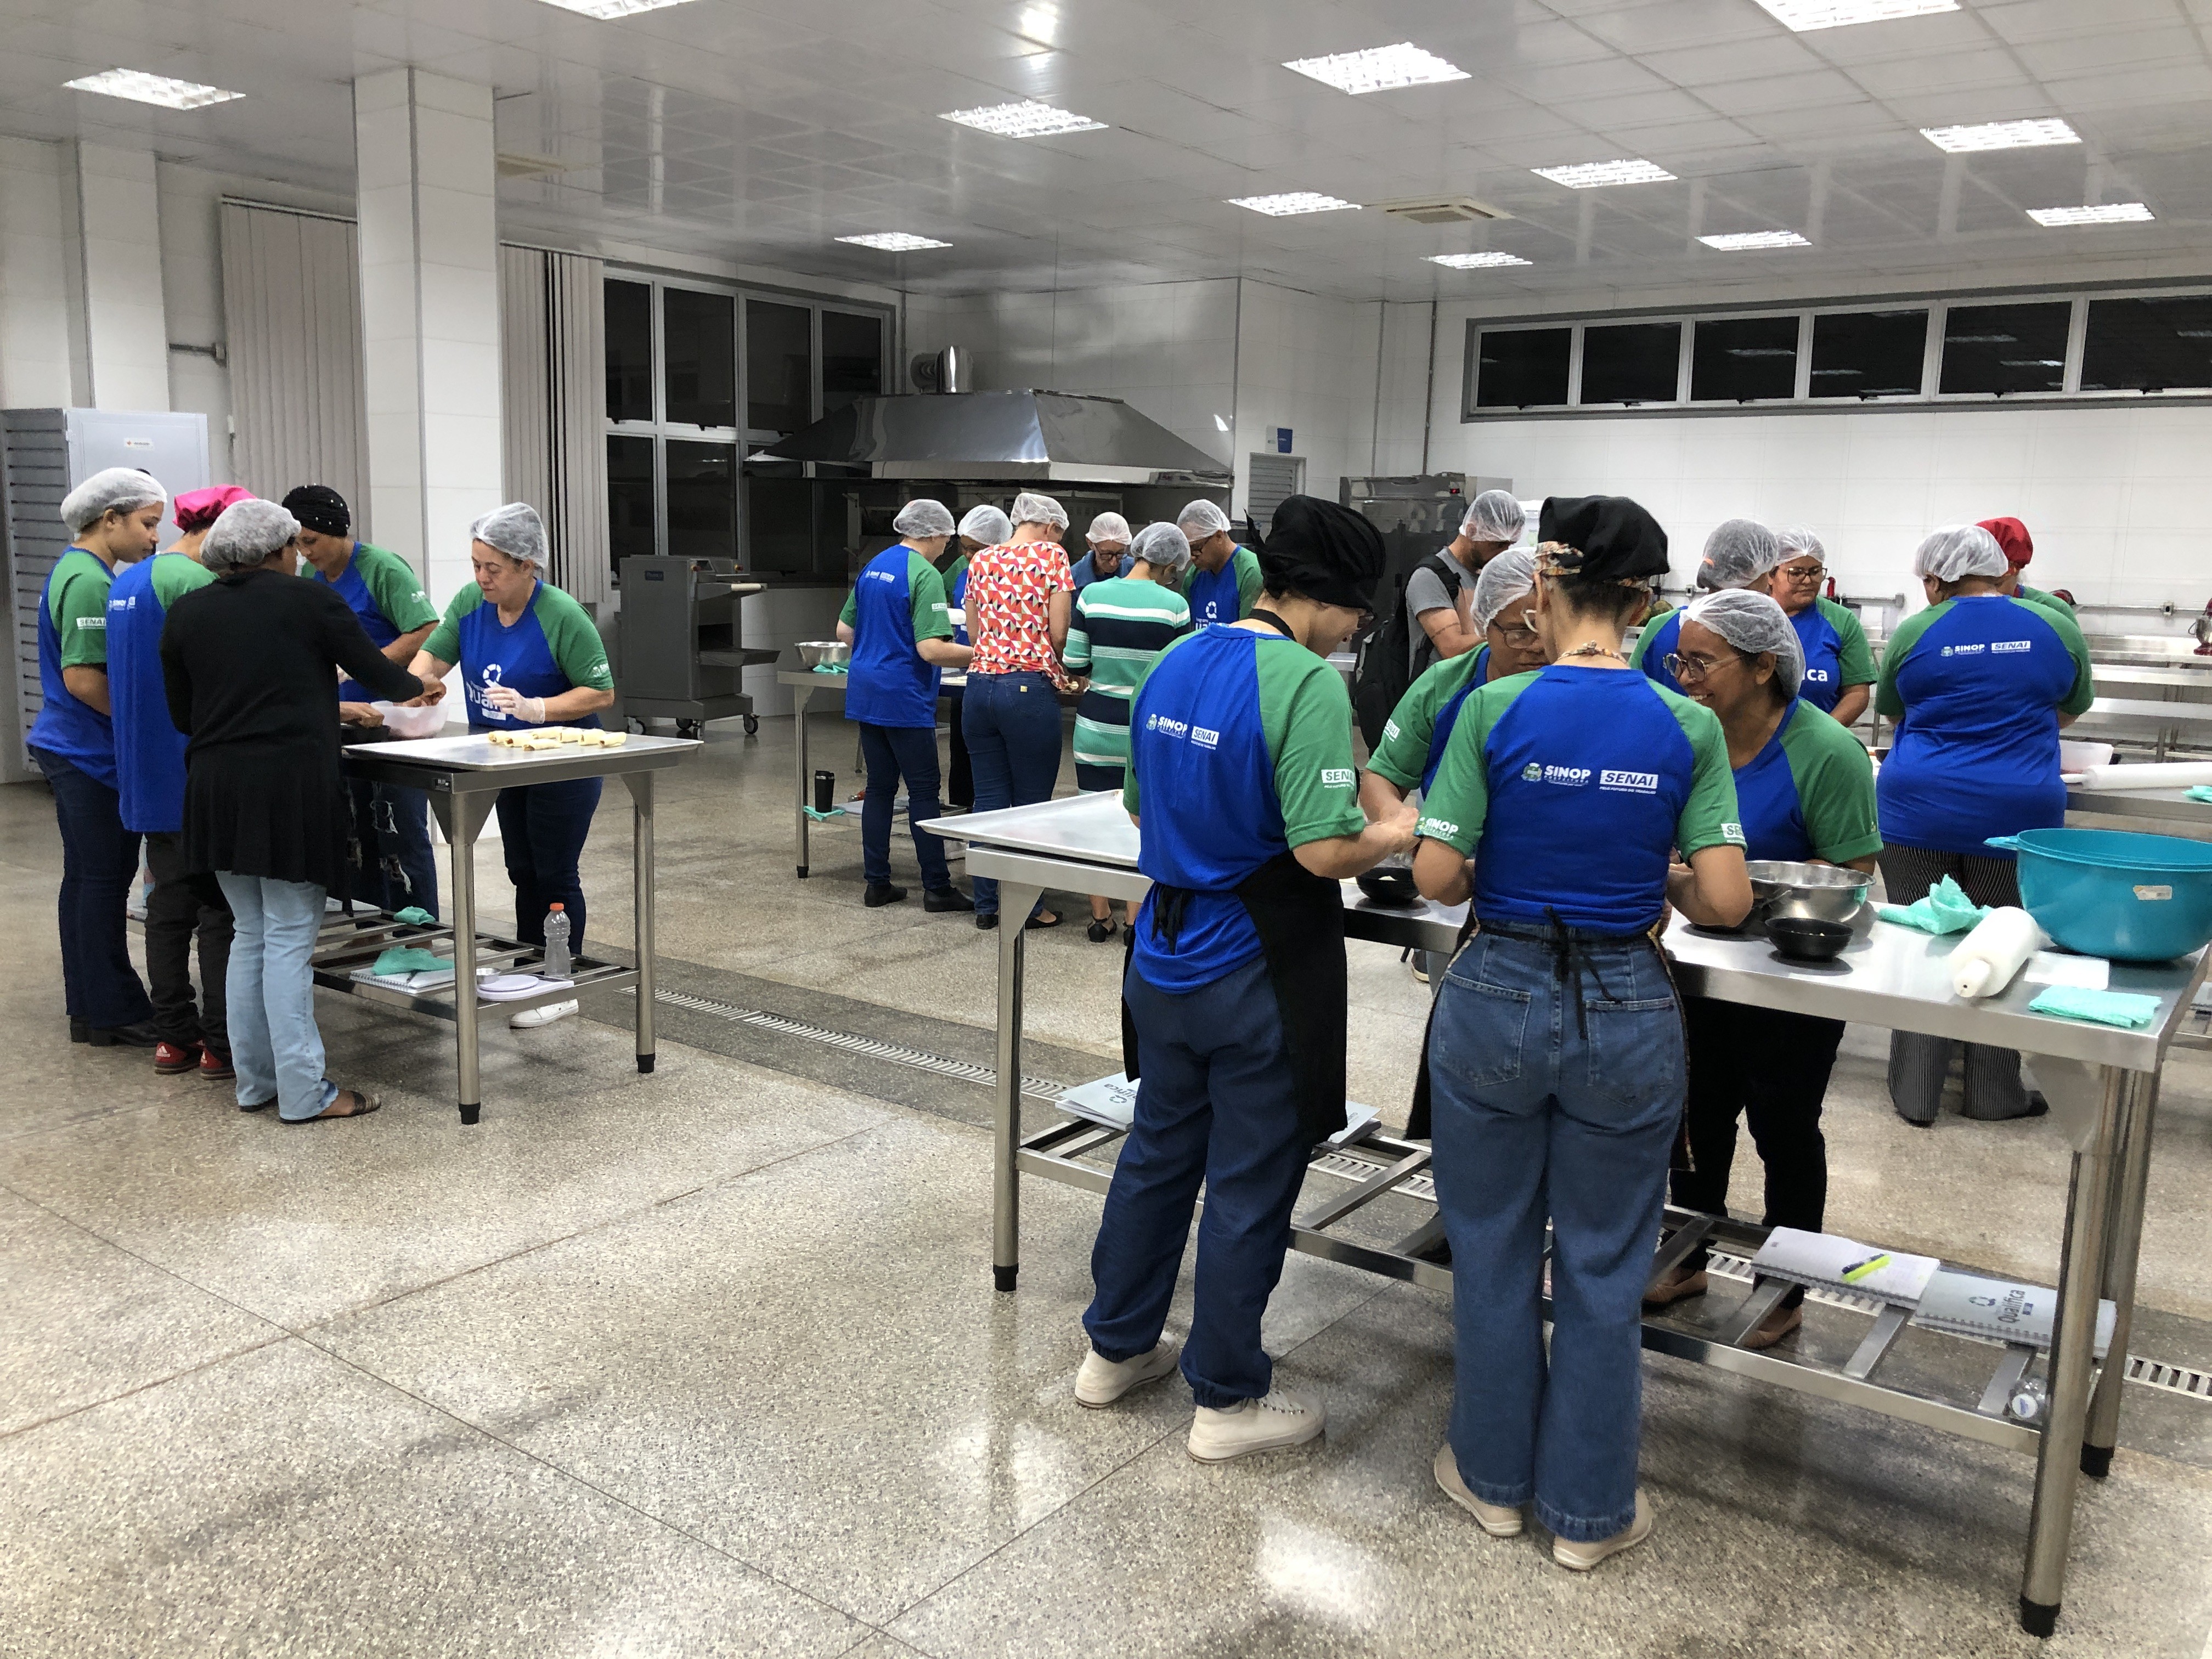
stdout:
MULTIPOLYGON (((1150 883, 1137 872, 1137 830, 1119 796, 1093 794, 1009 812, 971 814, 933 823, 938 834, 967 843, 967 867, 1000 883, 998 931, 998 1099, 993 1126, 993 1276, 1013 1290, 1020 1263, 1020 1179, 1053 1181, 1104 1192, 1113 1179, 1102 1164, 1082 1161, 1117 1139, 1117 1130, 1084 1119, 1057 1121, 1033 1135, 1020 1130, 1022 1099, 1022 971, 1026 916, 1046 887, 1139 900, 1150 883)), ((1385 909, 1345 883, 1345 931, 1352 938, 1449 951, 1464 909, 1422 905, 1385 909)), ((2119 1387, 2126 1371, 2128 1323, 2135 1305, 2135 1263, 2143 1225, 2143 1188, 2150 1170, 2150 1126, 2159 1068, 2190 998, 2205 973, 2205 951, 2157 967, 2112 964, 2115 991, 2159 998, 2146 1031, 2055 1020, 2028 1013, 2042 987, 2017 982, 1997 998, 1962 1002, 1951 993, 1944 958, 1955 938, 1929 938, 1905 927, 1858 925, 1838 964, 1783 962, 1763 938, 1714 936, 1677 918, 1666 938, 1686 995, 1787 1009, 1829 1020, 1920 1031, 1964 1042, 2020 1048, 2035 1060, 2035 1075, 2053 1102, 2053 1124, 2073 1146, 2064 1243, 2059 1252, 2059 1318, 2048 1356, 2048 1405, 2039 1422, 2020 1422, 2008 1409, 2013 1387, 2037 1354, 2013 1345, 1982 1389, 1980 1402, 1889 1383, 1882 1360, 1907 1325, 1909 1310, 1889 1305, 1858 1352, 1840 1367, 1798 1360, 1776 1349, 1745 1349, 1741 1338, 1787 1294, 1778 1281, 1756 1281, 1743 1307, 1714 1336, 1646 1321, 1644 1345, 1739 1376, 1774 1383, 1887 1416, 1947 1429, 1969 1440, 2013 1451, 2035 1451, 2035 1509, 2028 1522, 2022 1573, 2022 1626, 2051 1635, 2066 1582, 2066 1551, 2079 1475, 2110 1469, 2119 1431, 2119 1387), (2097 1303, 2110 1298, 2117 1325, 2110 1363, 2095 1363, 2097 1303)), ((1354 1267, 1451 1290, 1451 1270, 1433 1261, 1442 1239, 1438 1217, 1425 1219, 1396 1245, 1376 1245, 1332 1232, 1347 1214, 1385 1192, 1429 1197, 1429 1148, 1371 1133, 1360 1144, 1316 1157, 1316 1166, 1352 1159, 1369 1168, 1343 1197, 1310 1208, 1292 1225, 1292 1248, 1354 1267), (1427 1192, 1425 1192, 1427 1188, 1427 1192)), ((1332 1168, 1340 1175, 1340 1168, 1332 1168)), ((1686 1210, 1668 1210, 1652 1274, 1668 1272, 1699 1245, 1756 1250, 1763 1228, 1686 1210)))

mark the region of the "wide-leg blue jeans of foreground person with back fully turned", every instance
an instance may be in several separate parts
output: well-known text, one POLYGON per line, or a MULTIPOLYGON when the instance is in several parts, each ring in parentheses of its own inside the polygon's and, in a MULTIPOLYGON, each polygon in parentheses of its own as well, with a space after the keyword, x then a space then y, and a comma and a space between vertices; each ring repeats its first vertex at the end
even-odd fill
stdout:
POLYGON ((1533 1498, 1575 1542, 1613 1537, 1637 1511, 1641 1301, 1683 1084, 1681 1013, 1646 940, 1586 940, 1562 969, 1548 942, 1478 933, 1444 973, 1429 1086, 1451 1239, 1451 1451, 1475 1498, 1533 1498))

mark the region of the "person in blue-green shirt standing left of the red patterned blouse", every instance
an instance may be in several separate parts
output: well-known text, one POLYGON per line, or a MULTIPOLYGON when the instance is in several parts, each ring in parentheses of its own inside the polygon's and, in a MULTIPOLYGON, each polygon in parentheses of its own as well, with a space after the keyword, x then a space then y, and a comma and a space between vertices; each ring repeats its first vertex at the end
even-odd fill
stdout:
POLYGON ((938 816, 938 672, 967 668, 973 655, 956 646, 945 604, 945 580, 931 560, 953 535, 942 502, 911 500, 898 509, 894 542, 863 566, 836 619, 836 637, 852 646, 845 668, 845 719, 860 728, 867 794, 860 801, 860 869, 869 909, 898 905, 905 887, 891 885, 891 805, 907 781, 907 827, 922 867, 922 909, 975 909, 953 887, 945 838, 922 830, 938 816))

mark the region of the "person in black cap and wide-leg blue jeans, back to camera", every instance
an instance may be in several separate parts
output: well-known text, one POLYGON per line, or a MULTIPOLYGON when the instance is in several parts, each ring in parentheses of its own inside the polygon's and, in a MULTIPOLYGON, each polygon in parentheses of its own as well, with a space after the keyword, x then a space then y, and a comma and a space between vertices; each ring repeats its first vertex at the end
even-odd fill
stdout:
POLYGON ((1632 500, 1586 495, 1546 500, 1540 538, 1551 666, 1460 708, 1413 854, 1420 891, 1471 896, 1478 925, 1422 1057, 1458 1371, 1436 1480, 1493 1537, 1533 1500, 1553 1559, 1588 1571, 1652 1526, 1639 1303, 1686 1064, 1657 929, 1668 902, 1732 927, 1752 885, 1721 721, 1621 650, 1666 533, 1632 500))

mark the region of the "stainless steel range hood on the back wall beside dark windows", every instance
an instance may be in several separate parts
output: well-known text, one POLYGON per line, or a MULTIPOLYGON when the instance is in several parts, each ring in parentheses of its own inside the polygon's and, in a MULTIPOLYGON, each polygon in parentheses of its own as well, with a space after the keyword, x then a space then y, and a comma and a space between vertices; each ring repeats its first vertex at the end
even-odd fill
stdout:
POLYGON ((1230 469, 1121 398, 945 392, 858 398, 752 460, 867 467, 874 478, 1225 487, 1230 469))

